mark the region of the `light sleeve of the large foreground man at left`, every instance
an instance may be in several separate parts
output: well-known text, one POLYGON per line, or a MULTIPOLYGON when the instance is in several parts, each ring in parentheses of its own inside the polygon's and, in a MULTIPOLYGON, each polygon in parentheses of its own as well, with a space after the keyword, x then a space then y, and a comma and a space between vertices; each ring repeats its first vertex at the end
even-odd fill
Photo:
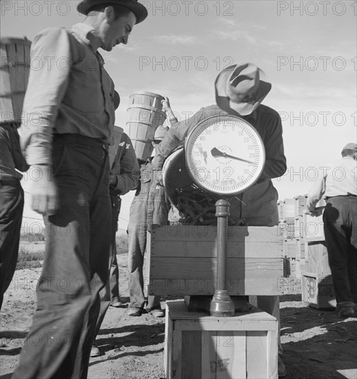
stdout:
POLYGON ((43 30, 31 45, 31 67, 19 130, 29 165, 51 164, 52 132, 72 65, 68 32, 43 30))

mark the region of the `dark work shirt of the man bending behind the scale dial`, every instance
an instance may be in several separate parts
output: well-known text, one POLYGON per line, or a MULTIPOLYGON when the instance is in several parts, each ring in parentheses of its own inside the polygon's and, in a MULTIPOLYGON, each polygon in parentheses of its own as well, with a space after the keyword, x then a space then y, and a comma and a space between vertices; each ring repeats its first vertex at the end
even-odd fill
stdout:
MULTIPOLYGON (((201 121, 210 116, 228 115, 217 105, 203 107, 187 121, 172 125, 165 139, 158 147, 158 153, 153 163, 160 170, 163 161, 179 145, 186 136, 201 121)), ((234 114, 234 113, 232 113, 234 114)), ((236 115, 236 114, 235 114, 236 115)), ((258 181, 243 194, 230 200, 230 213, 247 225, 273 226, 278 224, 278 192, 271 178, 282 176, 286 169, 286 158, 283 146, 283 127, 281 118, 275 110, 265 105, 259 105, 252 114, 241 117, 252 124, 261 136, 265 147, 265 166, 258 181)))

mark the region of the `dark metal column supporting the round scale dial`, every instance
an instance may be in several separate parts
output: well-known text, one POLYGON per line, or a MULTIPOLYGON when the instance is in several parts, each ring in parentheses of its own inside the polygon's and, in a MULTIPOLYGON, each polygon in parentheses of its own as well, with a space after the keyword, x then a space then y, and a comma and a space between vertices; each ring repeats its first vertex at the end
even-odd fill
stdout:
POLYGON ((230 216, 230 202, 224 199, 216 202, 217 218, 217 271, 216 291, 210 304, 210 314, 215 317, 234 316, 234 304, 228 291, 225 289, 225 267, 227 248, 228 216, 230 216))

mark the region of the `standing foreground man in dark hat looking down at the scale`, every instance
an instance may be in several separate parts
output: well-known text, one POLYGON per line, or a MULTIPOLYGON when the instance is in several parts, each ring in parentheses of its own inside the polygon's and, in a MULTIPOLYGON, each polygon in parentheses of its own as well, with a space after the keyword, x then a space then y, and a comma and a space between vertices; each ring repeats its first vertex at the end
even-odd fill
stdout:
POLYGON ((83 23, 48 28, 32 42, 32 57, 57 62, 30 70, 20 128, 28 163, 41 173, 31 205, 47 238, 37 310, 12 378, 86 378, 108 278, 114 83, 97 50, 128 43, 147 11, 136 0, 83 0, 77 9, 83 23))

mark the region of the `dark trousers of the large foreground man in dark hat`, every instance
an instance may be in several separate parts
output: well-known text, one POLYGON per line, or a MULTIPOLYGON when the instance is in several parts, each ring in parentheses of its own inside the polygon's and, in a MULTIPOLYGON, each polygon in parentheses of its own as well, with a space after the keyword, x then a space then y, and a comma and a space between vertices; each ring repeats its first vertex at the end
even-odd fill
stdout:
POLYGON ((37 310, 12 378, 87 378, 108 278, 108 147, 76 134, 54 135, 59 211, 46 218, 46 248, 37 310))

